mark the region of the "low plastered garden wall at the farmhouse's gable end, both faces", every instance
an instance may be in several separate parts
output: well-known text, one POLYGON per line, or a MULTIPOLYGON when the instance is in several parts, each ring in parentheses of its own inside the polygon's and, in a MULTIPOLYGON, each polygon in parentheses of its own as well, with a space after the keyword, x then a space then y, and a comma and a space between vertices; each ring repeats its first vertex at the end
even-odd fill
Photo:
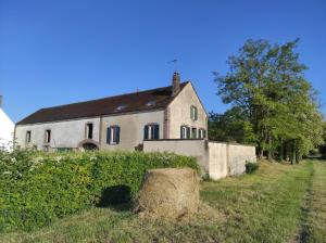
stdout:
POLYGON ((254 146, 205 140, 145 141, 143 151, 195 156, 202 174, 212 179, 241 175, 246 171, 246 162, 256 162, 254 146))

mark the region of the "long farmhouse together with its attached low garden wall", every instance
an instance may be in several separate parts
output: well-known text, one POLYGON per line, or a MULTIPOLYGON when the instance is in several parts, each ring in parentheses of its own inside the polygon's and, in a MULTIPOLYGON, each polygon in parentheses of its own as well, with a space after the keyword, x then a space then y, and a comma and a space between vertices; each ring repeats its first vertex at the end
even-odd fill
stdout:
POLYGON ((16 144, 43 151, 139 150, 196 156, 218 179, 244 171, 253 146, 208 141, 208 114, 190 81, 41 108, 16 124, 16 144))

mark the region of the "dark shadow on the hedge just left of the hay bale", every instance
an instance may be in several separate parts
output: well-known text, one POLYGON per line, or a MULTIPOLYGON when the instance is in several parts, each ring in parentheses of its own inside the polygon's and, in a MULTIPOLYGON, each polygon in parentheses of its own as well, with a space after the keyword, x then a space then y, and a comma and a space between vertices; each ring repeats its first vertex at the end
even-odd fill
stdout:
POLYGON ((105 188, 97 206, 118 212, 130 210, 133 208, 130 187, 118 184, 105 188))

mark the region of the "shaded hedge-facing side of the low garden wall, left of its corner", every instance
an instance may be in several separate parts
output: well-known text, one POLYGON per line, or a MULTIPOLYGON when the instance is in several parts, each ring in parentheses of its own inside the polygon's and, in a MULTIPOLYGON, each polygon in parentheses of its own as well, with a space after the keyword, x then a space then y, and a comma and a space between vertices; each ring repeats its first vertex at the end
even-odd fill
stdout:
POLYGON ((197 158, 203 174, 209 172, 204 140, 162 140, 145 141, 143 152, 171 152, 197 158))

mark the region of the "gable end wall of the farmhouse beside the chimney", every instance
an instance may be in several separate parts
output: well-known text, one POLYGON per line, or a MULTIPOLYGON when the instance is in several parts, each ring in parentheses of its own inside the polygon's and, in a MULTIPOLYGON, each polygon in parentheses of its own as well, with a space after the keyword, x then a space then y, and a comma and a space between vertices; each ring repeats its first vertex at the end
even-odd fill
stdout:
POLYGON ((180 126, 187 125, 203 128, 208 130, 208 115, 191 85, 189 82, 180 93, 171 102, 167 107, 170 123, 168 123, 168 138, 180 138, 180 126), (198 108, 198 119, 192 120, 190 117, 190 106, 195 105, 198 108))

